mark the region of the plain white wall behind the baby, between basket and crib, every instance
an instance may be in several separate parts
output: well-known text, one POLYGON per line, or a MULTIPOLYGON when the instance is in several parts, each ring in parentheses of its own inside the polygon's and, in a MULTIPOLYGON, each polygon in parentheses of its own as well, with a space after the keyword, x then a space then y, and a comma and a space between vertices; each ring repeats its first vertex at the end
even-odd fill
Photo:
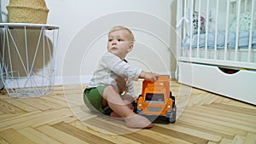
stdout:
MULTIPOLYGON (((9 0, 2 3, 6 11, 9 0)), ((65 76, 65 83, 70 80, 77 83, 78 76, 90 76, 107 50, 109 29, 116 25, 127 26, 134 32, 135 48, 127 56, 132 65, 171 74, 175 62, 171 61, 174 49, 170 44, 172 0, 46 0, 46 3, 47 24, 60 26, 57 79, 65 76)))

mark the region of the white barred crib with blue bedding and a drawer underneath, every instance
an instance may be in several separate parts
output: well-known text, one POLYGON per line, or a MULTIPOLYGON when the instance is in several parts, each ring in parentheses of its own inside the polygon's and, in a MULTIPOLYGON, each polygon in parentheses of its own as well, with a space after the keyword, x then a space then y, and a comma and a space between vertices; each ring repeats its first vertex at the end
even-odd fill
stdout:
POLYGON ((179 83, 256 105, 254 1, 177 1, 179 83))

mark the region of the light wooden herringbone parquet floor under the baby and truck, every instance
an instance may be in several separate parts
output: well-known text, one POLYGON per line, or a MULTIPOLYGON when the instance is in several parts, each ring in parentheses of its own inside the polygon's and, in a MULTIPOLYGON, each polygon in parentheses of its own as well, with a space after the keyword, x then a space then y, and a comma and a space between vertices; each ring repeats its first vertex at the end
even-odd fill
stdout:
POLYGON ((159 120, 149 130, 134 130, 90 112, 83 104, 84 87, 55 86, 50 95, 36 98, 0 95, 0 143, 256 143, 256 107, 241 101, 171 81, 176 123, 159 120))

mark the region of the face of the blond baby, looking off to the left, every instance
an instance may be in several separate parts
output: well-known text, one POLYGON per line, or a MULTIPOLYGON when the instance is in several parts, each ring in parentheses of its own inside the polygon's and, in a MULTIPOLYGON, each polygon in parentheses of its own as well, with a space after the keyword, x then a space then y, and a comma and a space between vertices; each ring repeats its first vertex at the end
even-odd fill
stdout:
POLYGON ((108 51, 110 53, 124 60, 132 48, 131 37, 126 30, 117 30, 108 34, 108 51))

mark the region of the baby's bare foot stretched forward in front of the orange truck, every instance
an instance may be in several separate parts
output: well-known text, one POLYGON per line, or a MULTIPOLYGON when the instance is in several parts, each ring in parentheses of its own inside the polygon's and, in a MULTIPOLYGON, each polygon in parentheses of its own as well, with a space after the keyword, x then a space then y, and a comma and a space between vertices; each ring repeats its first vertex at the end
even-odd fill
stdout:
POLYGON ((148 118, 145 118, 137 114, 131 117, 125 118, 125 122, 127 127, 129 128, 148 129, 153 127, 154 125, 148 120, 148 118))

